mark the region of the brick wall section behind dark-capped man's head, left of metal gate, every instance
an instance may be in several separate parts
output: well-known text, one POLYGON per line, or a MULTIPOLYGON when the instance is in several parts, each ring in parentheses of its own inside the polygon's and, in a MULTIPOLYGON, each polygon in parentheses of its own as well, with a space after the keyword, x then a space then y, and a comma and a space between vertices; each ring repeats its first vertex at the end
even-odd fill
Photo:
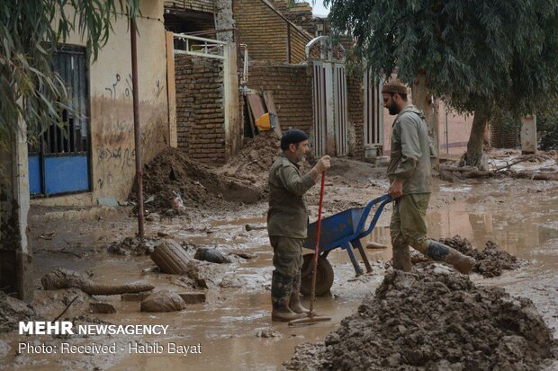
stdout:
POLYGON ((248 87, 273 93, 281 128, 312 127, 312 75, 308 66, 253 66, 248 87))

